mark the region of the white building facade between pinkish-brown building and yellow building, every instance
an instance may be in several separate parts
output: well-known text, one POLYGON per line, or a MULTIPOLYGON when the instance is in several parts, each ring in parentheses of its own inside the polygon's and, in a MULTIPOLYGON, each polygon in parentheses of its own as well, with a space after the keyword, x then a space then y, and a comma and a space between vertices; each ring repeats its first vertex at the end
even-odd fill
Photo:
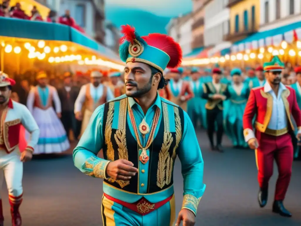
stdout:
POLYGON ((224 42, 224 36, 230 31, 230 9, 227 8, 228 0, 210 0, 204 4, 204 45, 215 46, 209 50, 213 55, 222 49, 229 48, 231 42, 224 42))

